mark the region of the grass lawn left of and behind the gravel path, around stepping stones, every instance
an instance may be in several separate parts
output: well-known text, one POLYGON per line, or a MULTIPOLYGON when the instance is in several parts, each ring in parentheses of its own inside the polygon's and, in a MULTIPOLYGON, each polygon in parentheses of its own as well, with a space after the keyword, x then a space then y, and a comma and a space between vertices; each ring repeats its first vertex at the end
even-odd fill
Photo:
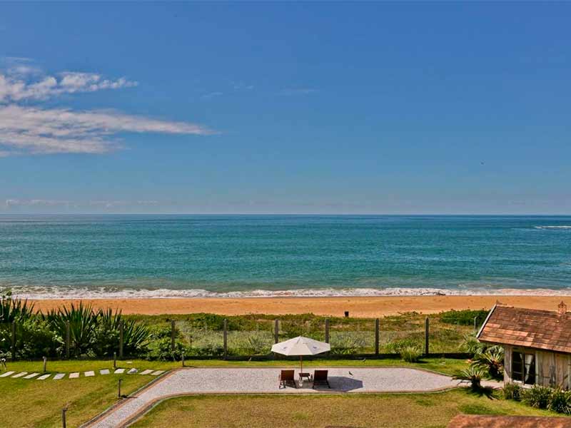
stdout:
MULTIPOLYGON (((180 362, 153 362, 146 360, 124 360, 117 362, 118 367, 136 367, 139 370, 156 369, 168 370, 181 367, 180 362)), ((41 372, 42 362, 8 362, 8 370, 18 372, 41 372)), ((69 360, 49 361, 48 372, 84 372, 99 370, 113 366, 108 360, 69 360)), ((188 367, 297 367, 298 362, 276 361, 223 361, 223 360, 188 360, 188 367)), ((305 362, 305 367, 318 366, 351 366, 351 367, 418 367, 445 374, 455 374, 468 367, 465 360, 426 359, 410 364, 401 360, 313 360, 305 362)), ((83 373, 82 373, 83 376, 83 373)), ((119 375, 110 374, 95 377, 80 377, 79 379, 0 379, 0 414, 1 426, 4 428, 20 427, 61 427, 61 407, 69 403, 68 427, 77 427, 91 417, 102 412, 116 402, 117 382, 119 375), (10 415, 9 417, 7 415, 10 415)), ((153 377, 140 375, 121 375, 123 393, 128 394, 153 377)), ((366 398, 366 397, 365 397, 366 398)))

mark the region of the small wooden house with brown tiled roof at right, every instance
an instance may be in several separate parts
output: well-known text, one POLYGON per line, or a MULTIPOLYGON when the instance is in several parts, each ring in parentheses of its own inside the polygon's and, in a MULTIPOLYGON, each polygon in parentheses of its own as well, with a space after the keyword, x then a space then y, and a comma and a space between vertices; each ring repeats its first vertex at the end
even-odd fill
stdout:
POLYGON ((477 333, 480 342, 505 350, 504 382, 571 389, 571 313, 498 303, 477 333))

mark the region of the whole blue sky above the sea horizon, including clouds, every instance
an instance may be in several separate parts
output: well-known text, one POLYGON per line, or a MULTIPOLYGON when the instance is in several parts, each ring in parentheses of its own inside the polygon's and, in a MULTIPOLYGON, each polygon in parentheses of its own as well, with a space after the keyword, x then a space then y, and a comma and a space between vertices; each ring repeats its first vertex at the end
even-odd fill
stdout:
POLYGON ((1 4, 0 213, 571 213, 570 4, 1 4))

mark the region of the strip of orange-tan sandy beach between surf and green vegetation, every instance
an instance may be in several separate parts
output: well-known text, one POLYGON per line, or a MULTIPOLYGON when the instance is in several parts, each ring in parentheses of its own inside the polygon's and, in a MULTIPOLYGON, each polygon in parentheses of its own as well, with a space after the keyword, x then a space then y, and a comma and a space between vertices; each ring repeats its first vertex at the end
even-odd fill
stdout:
MULTIPOLYGON (((490 309, 495 302, 507 305, 555 310, 561 296, 410 296, 410 297, 249 297, 249 298, 184 298, 184 299, 93 299, 84 303, 94 307, 112 307, 124 314, 189 314, 211 312, 221 315, 302 314, 342 317, 348 310, 355 317, 383 317, 399 312, 435 313, 443 310, 490 309)), ((46 312, 54 307, 79 300, 34 300, 36 310, 46 312)))

